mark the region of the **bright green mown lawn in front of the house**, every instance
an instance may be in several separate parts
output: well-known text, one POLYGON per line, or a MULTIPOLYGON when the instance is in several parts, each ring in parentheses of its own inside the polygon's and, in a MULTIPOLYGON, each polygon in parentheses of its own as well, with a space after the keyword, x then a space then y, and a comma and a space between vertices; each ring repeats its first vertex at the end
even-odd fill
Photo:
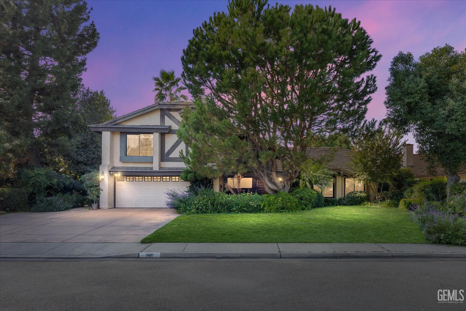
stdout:
POLYGON ((320 207, 273 214, 181 215, 141 240, 152 242, 427 243, 402 209, 320 207))

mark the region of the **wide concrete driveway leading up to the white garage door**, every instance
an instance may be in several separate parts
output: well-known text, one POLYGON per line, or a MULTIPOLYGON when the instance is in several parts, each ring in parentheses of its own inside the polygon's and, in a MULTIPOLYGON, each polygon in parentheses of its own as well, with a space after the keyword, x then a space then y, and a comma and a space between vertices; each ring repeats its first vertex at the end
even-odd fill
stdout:
POLYGON ((177 217, 169 208, 73 208, 0 216, 0 242, 139 242, 177 217))

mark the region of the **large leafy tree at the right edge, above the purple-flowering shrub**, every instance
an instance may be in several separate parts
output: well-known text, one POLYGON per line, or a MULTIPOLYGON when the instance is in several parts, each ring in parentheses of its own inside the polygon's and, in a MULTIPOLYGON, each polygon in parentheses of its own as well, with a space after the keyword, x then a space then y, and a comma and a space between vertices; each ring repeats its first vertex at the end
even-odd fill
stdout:
POLYGON ((447 194, 466 165, 466 51, 446 44, 414 60, 398 53, 385 88, 387 118, 397 129, 411 131, 418 152, 430 165, 444 168, 447 194))

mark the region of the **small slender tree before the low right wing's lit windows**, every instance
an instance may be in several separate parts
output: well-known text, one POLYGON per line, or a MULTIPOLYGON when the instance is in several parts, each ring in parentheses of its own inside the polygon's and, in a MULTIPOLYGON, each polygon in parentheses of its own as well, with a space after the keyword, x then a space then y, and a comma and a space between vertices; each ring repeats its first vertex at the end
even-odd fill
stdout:
POLYGON ((401 132, 379 124, 372 135, 357 139, 351 148, 356 178, 369 185, 376 200, 380 200, 381 183, 401 166, 406 142, 402 138, 401 132))

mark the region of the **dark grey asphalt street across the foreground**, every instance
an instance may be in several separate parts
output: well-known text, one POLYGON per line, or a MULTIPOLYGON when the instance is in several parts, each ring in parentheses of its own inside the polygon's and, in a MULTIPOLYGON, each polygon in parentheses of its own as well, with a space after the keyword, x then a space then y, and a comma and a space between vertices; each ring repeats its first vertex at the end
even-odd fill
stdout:
POLYGON ((1 311, 466 310, 444 289, 466 260, 0 261, 1 311))

